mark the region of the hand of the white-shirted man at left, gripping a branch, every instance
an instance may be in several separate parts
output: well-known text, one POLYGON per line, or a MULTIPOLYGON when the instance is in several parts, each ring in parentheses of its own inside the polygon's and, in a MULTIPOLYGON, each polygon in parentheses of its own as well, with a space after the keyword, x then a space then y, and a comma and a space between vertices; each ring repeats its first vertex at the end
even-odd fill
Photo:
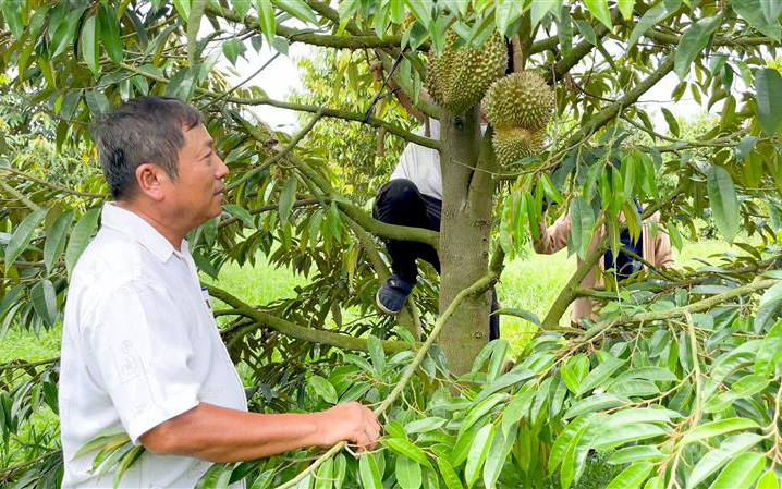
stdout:
POLYGON ((346 440, 363 452, 372 450, 380 437, 377 416, 357 402, 339 404, 314 416, 317 417, 317 444, 320 447, 332 447, 346 440))

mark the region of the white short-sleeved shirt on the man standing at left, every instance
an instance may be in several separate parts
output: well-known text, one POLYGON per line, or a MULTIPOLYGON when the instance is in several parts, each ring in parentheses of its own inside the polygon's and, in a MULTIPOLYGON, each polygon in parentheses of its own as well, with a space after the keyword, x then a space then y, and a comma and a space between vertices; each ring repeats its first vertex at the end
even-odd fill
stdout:
MULTIPOLYGON (((61 354, 64 488, 112 487, 113 473, 88 473, 96 451, 73 457, 108 428, 123 428, 139 443, 200 402, 247 411, 187 243, 176 252, 113 204, 103 207, 101 229, 73 270, 61 354)), ((210 465, 145 452, 120 487, 192 488, 210 465)))

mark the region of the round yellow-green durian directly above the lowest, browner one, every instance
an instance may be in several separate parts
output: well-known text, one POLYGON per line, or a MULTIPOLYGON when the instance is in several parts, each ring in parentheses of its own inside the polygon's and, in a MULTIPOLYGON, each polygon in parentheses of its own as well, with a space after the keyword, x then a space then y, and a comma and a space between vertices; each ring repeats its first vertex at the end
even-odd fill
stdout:
POLYGON ((494 127, 545 127, 554 109, 554 93, 534 71, 513 73, 494 82, 481 102, 494 127))

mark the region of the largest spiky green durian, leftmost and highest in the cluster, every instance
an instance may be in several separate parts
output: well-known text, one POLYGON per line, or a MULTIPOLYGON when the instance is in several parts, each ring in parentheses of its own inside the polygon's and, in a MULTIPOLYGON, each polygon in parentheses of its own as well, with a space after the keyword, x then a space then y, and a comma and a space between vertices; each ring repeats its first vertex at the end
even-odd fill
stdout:
POLYGON ((508 49, 499 34, 477 49, 466 44, 456 48, 457 39, 459 35, 449 30, 442 54, 429 57, 425 86, 439 106, 463 114, 505 73, 508 49))

